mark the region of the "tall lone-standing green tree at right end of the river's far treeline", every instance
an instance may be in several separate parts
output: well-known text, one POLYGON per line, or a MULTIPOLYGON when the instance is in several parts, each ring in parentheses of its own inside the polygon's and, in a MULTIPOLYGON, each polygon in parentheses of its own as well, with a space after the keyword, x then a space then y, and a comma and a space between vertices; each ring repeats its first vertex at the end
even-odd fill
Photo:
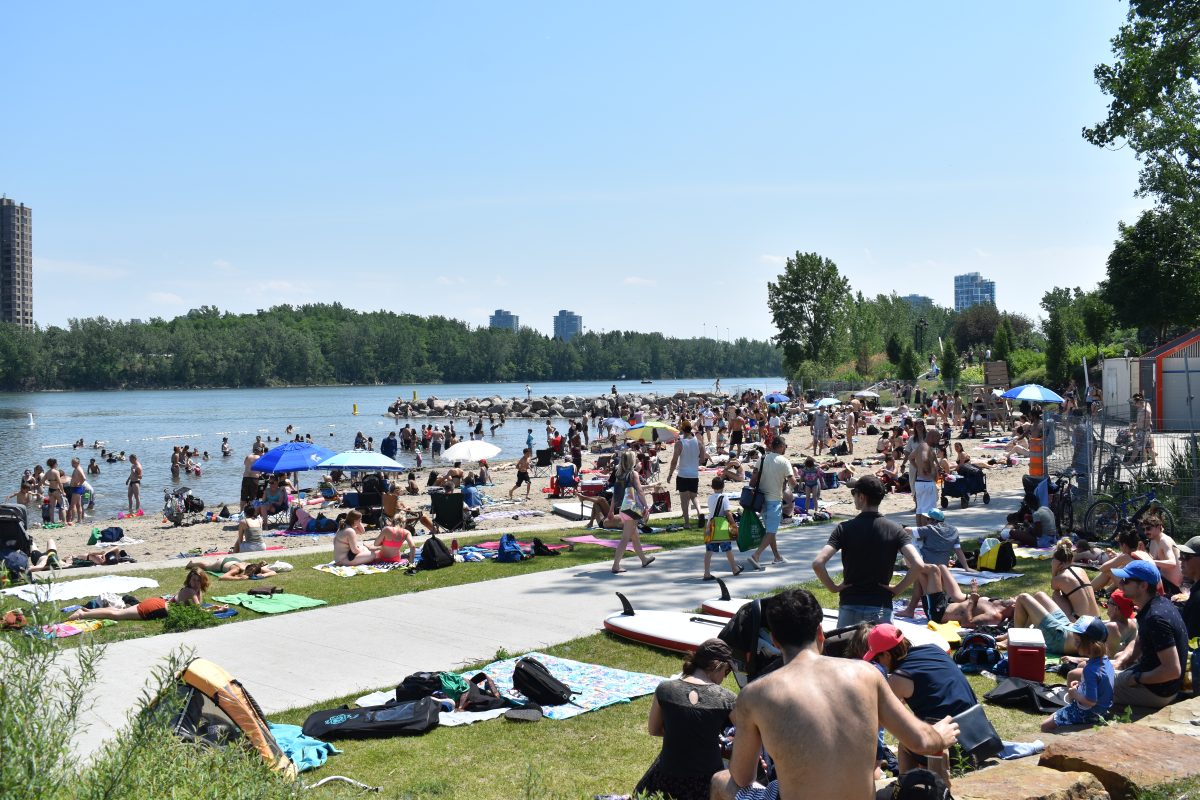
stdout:
POLYGON ((794 371, 804 361, 827 365, 838 357, 850 281, 817 253, 796 252, 784 273, 767 284, 767 307, 779 333, 775 344, 794 371))

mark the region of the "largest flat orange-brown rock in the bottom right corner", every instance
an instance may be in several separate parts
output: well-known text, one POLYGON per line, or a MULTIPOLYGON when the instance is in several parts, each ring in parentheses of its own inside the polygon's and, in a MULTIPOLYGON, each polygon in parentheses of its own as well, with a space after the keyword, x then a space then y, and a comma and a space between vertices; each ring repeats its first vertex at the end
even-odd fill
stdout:
POLYGON ((1148 726, 1112 724, 1055 736, 1038 763, 1061 771, 1091 772, 1114 800, 1126 800, 1200 775, 1200 741, 1148 726))

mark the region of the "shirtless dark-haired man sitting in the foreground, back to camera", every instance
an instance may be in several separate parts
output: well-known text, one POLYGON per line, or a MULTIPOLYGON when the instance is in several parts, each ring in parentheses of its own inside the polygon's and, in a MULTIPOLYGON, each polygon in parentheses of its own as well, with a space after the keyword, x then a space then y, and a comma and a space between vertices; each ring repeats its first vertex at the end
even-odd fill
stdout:
POLYGON ((958 739, 950 717, 932 726, 922 722, 865 661, 822 656, 821 606, 810 593, 778 595, 767 618, 784 666, 738 696, 733 757, 728 770, 713 776, 712 798, 868 800, 875 796, 880 727, 907 750, 928 756, 958 739), (763 747, 778 775, 766 790, 750 786, 763 747))

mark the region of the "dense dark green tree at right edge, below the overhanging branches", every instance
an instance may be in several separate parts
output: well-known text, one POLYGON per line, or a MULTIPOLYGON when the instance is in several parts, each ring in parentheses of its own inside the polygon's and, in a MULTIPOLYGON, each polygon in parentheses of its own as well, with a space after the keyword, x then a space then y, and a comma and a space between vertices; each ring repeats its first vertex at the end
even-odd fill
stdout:
POLYGON ((1100 296, 1121 325, 1148 327, 1162 342, 1170 329, 1200 319, 1200 245, 1195 231, 1162 210, 1142 212, 1109 254, 1100 296))

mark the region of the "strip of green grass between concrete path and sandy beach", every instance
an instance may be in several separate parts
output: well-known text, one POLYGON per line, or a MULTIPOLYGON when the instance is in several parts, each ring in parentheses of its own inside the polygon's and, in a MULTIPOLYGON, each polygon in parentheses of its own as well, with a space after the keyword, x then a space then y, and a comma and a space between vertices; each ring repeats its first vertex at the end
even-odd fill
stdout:
MULTIPOLYGON (((680 517, 667 517, 667 518, 654 518, 652 519, 654 528, 667 528, 671 525, 680 524, 683 519, 680 517)), ((829 522, 821 523, 824 525, 832 524, 829 522)), ((479 541, 497 540, 503 531, 492 531, 488 534, 480 535, 457 535, 460 545, 469 545, 479 541)), ((524 535, 520 535, 518 539, 523 542, 532 541, 534 536, 538 536, 546 543, 557 543, 563 536, 578 536, 582 534, 595 534, 601 539, 619 539, 619 531, 599 531, 583 530, 581 527, 575 528, 562 528, 556 530, 544 530, 544 531, 532 531, 524 535)), ((613 551, 611 548, 600 547, 599 545, 576 545, 574 551, 563 551, 557 557, 540 557, 528 559, 517 564, 497 564, 494 561, 480 561, 480 563, 467 563, 456 564, 452 569, 436 570, 432 572, 418 572, 415 575, 404 575, 403 570, 395 570, 384 575, 361 575, 353 578, 338 578, 336 576, 318 572, 312 567, 318 564, 328 564, 332 559, 332 537, 325 537, 329 542, 330 551, 326 553, 307 553, 307 554, 295 554, 290 555, 283 551, 271 551, 263 554, 263 558, 268 561, 284 560, 295 567, 290 572, 281 572, 280 575, 268 578, 265 581, 217 581, 212 579, 209 585, 209 591, 205 597, 211 599, 222 595, 233 595, 247 591, 254 587, 262 585, 276 585, 292 594, 304 595, 306 597, 313 597, 316 600, 324 600, 330 606, 340 606, 342 603, 358 602, 360 600, 374 600, 376 597, 386 597, 390 595, 402 595, 414 591, 424 591, 426 589, 439 589, 442 587, 456 587, 464 583, 478 583, 480 581, 491 581, 493 578, 506 578, 516 575, 527 575, 530 572, 542 572, 545 570, 558 570, 564 567, 581 566, 586 564, 594 564, 598 561, 607 561, 613 557, 613 551)), ((450 536, 445 537, 446 545, 449 545, 450 536)), ((643 535, 643 542, 647 545, 658 545, 664 549, 678 549, 682 547, 691 547, 703 542, 703 531, 698 529, 678 530, 672 533, 658 533, 643 535)), ((418 547, 420 547, 421 541, 418 541, 418 547)), ((208 557, 204 560, 212 561, 214 557, 208 557)), ((251 560, 251 559, 246 559, 251 560)), ((152 578, 158 582, 157 589, 142 589, 139 591, 132 593, 139 600, 151 596, 158 596, 164 594, 173 594, 182 585, 184 576, 186 575, 184 570, 185 560, 180 559, 178 567, 162 569, 162 570, 148 570, 144 572, 137 572, 139 577, 152 578)), ((70 576, 70 579, 86 578, 91 577, 88 575, 86 570, 67 571, 65 575, 70 576)), ((86 602, 85 600, 73 600, 65 602, 62 604, 70 606, 73 603, 86 602)), ((0 614, 12 608, 24 608, 26 603, 14 599, 4 596, 0 597, 0 614)), ((240 621, 258 619, 263 616, 250 609, 236 607, 238 615, 228 619, 220 620, 221 625, 233 625, 240 621)), ((292 613, 304 613, 304 612, 292 612, 292 613)), ((59 620, 66 619, 66 615, 60 615, 59 620)), ((53 621, 53 620, 43 620, 53 621)), ((156 636, 162 633, 163 624, 160 620, 152 621, 140 621, 140 620, 124 620, 114 625, 109 625, 100 628, 91 636, 96 642, 118 642, 122 639, 136 639, 145 636, 156 636)), ((18 633, 4 633, 0 636, 18 636, 18 633)), ((66 639, 59 639, 64 646, 72 646, 82 637, 70 637, 66 639)))

